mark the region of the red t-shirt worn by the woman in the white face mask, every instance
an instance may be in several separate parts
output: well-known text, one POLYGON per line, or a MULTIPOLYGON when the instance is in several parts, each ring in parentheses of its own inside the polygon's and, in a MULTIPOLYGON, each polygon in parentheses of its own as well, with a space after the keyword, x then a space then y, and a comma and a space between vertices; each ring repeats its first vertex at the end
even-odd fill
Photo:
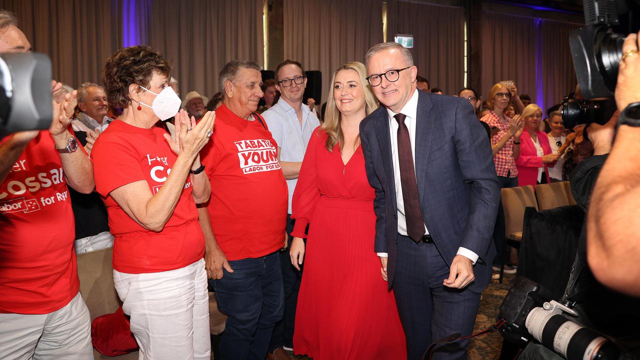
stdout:
POLYGON ((147 181, 151 193, 159 191, 177 155, 159 127, 143 129, 114 120, 93 145, 91 158, 95 188, 102 196, 114 236, 113 268, 127 274, 163 272, 201 259, 204 236, 191 196, 191 179, 169 221, 160 232, 135 222, 111 197, 111 191, 136 181, 147 181))

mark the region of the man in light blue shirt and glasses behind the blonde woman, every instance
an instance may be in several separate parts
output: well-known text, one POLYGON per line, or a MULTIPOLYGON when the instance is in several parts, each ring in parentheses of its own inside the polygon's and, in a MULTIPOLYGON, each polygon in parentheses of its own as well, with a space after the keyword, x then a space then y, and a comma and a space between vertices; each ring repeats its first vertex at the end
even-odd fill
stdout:
MULTIPOLYGON (((320 122, 316 114, 303 105, 307 86, 305 70, 298 61, 285 60, 275 70, 276 90, 280 100, 262 113, 269 131, 278 143, 278 161, 289 187, 289 210, 287 213, 288 245, 291 245, 294 220, 291 218, 291 199, 298 182, 300 165, 305 157, 307 144, 320 122)), ((269 346, 269 360, 287 359, 284 350, 293 348, 293 329, 298 304, 298 290, 302 272, 291 265, 289 251, 280 252, 280 268, 284 282, 284 316, 276 324, 269 346)))

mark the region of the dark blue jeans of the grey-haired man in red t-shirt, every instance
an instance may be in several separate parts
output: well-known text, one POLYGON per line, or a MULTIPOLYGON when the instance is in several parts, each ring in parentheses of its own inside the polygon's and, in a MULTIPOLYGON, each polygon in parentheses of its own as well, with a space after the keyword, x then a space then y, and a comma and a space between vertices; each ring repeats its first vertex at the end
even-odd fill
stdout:
POLYGON ((220 341, 222 360, 264 360, 284 293, 278 252, 257 259, 229 261, 220 280, 211 280, 227 326, 220 341))

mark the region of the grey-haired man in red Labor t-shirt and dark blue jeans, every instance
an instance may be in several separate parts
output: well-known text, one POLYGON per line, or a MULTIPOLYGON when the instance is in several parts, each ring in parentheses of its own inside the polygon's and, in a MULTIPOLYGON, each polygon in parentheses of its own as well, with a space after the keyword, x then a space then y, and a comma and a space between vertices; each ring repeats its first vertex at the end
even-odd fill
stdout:
POLYGON ((284 295, 278 250, 285 240, 287 183, 275 140, 254 113, 262 97, 255 61, 220 72, 223 105, 211 141, 200 151, 211 199, 198 209, 207 273, 227 314, 223 360, 264 359, 284 295))

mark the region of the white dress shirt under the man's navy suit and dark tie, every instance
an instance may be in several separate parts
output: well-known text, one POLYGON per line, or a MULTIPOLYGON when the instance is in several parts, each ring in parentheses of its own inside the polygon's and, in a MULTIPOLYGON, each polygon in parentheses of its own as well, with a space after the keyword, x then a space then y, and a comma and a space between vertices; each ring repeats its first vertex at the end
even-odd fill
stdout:
MULTIPOLYGON (((406 115, 404 119, 404 124, 407 129, 409 129, 409 138, 411 141, 411 151, 413 157, 413 168, 415 171, 415 127, 416 127, 416 118, 418 111, 418 90, 413 92, 413 95, 409 101, 404 104, 400 113, 406 115)), ((406 217, 404 216, 404 199, 402 195, 402 183, 400 179, 400 161, 398 160, 398 145, 397 145, 397 133, 398 133, 398 122, 394 118, 396 113, 387 108, 387 113, 389 115, 389 133, 391 136, 391 157, 394 163, 394 183, 396 184, 396 204, 397 204, 397 220, 398 220, 398 233, 404 236, 408 236, 406 232, 406 217)), ((429 229, 424 225, 424 231, 426 234, 429 234, 429 229)), ((458 255, 465 256, 469 258, 472 263, 476 263, 478 256, 475 252, 466 249, 464 247, 460 247, 458 249, 458 255)), ((378 256, 387 257, 388 254, 386 252, 378 252, 378 256)))

